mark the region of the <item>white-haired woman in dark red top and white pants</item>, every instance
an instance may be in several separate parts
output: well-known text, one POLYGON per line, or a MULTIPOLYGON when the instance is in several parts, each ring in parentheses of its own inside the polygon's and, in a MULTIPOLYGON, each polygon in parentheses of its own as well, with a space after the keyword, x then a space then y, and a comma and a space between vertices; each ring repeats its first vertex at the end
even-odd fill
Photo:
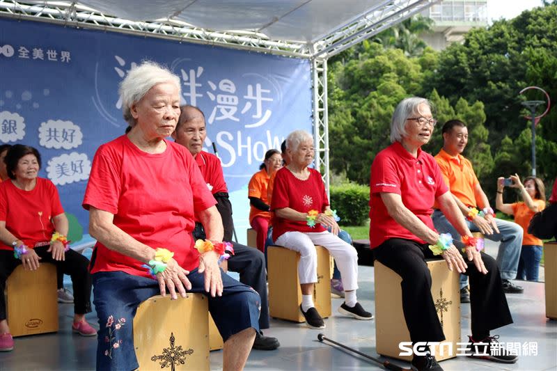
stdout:
POLYGON ((301 287, 301 313, 311 329, 325 324, 313 303, 313 285, 317 282, 317 253, 321 245, 334 256, 343 277, 345 302, 338 308, 356 319, 372 319, 356 300, 358 255, 354 246, 338 238, 334 218, 321 174, 308 166, 313 162, 313 138, 296 130, 286 138, 290 163, 276 172, 271 210, 274 210, 273 240, 279 246, 300 253, 298 276, 301 287), (331 232, 327 231, 331 228, 331 232))

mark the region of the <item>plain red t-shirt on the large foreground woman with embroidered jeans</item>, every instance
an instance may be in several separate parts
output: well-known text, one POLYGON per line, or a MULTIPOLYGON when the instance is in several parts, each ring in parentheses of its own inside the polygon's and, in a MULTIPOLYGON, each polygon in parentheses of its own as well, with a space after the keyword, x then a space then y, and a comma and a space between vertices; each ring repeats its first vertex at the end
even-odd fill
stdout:
MULTIPOLYGON (((193 157, 181 145, 166 141, 166 150, 149 154, 127 136, 103 144, 95 153, 83 207, 114 215, 113 223, 134 239, 174 252, 187 270, 198 266, 191 231, 194 213, 216 203, 193 157)), ((143 262, 97 242, 91 273, 125 271, 148 277, 143 262)))

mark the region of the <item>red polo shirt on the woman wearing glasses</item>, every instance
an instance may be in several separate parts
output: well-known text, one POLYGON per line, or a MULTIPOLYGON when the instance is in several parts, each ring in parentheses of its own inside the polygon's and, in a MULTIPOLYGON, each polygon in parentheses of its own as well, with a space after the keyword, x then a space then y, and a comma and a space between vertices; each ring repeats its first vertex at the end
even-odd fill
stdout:
POLYGON ((370 179, 370 246, 375 248, 386 239, 404 238, 424 244, 391 218, 380 193, 400 194, 402 203, 426 226, 435 230, 431 214, 435 198, 445 194, 447 186, 439 165, 429 153, 418 149, 414 158, 395 142, 377 154, 371 165, 370 179))

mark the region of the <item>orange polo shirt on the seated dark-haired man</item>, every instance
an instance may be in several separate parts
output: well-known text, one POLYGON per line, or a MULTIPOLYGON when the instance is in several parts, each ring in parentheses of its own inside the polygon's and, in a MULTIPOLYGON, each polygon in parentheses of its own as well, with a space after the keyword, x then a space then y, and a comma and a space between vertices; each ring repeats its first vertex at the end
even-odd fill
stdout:
MULTIPOLYGON (((462 155, 456 155, 455 157, 449 155, 443 148, 435 156, 435 161, 441 168, 441 174, 450 193, 461 200, 464 205, 476 207, 476 192, 474 189, 479 182, 472 168, 472 163, 462 155)), ((436 203, 434 207, 438 209, 439 205, 436 203)))

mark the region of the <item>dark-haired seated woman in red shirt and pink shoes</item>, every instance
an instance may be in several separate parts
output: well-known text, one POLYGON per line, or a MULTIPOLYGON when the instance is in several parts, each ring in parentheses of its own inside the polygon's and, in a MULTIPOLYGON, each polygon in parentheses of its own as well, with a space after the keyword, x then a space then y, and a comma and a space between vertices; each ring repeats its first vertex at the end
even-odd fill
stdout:
MULTIPOLYGON (((83 336, 97 335, 85 321, 85 314, 91 312, 89 260, 71 249, 65 251, 68 219, 56 186, 38 177, 38 150, 16 144, 8 150, 4 161, 9 178, 0 184, 0 293, 18 265, 35 270, 40 262, 53 263, 72 278, 73 331, 83 336)), ((0 351, 11 349, 13 340, 6 321, 6 301, 0 294, 0 351)))

